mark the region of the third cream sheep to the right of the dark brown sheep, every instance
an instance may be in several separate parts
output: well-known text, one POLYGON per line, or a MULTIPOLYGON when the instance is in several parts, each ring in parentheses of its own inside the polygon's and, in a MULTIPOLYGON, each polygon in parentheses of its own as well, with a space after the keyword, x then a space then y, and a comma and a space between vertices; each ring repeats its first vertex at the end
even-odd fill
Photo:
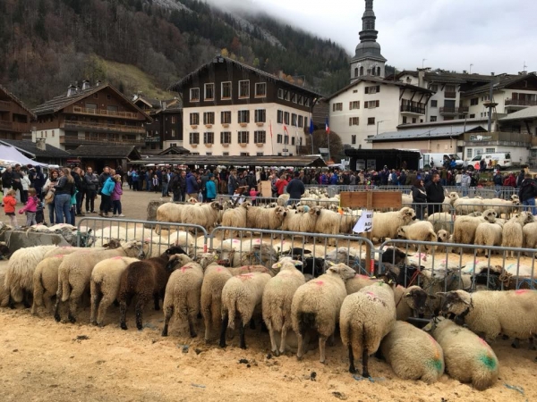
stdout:
POLYGON ((222 326, 220 348, 226 348, 226 328, 234 329, 235 317, 239 319, 239 346, 246 348, 244 327, 250 322, 256 307, 261 305, 263 290, 272 278, 268 273, 250 272, 234 276, 222 289, 222 326))

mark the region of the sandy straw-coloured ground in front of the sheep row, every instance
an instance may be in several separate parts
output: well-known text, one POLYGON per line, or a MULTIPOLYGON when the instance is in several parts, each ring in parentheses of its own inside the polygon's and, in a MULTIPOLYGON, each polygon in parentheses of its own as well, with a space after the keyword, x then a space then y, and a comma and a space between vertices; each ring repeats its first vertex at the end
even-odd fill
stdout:
MULTIPOLYGON (((158 198, 126 189, 124 214, 145 219, 148 201, 158 198)), ((119 329, 117 307, 109 308, 104 328, 89 325, 89 310, 86 305, 79 321, 71 324, 55 322, 46 312, 35 317, 21 307, 0 309, 0 400, 537 400, 537 352, 513 349, 508 340, 492 344, 500 362, 499 381, 480 392, 447 375, 429 386, 402 381, 376 358, 370 363, 374 382, 354 378, 347 372, 347 354, 338 339, 327 348, 327 364, 319 363, 317 350, 299 362, 290 352, 268 356, 268 334, 259 330, 246 331, 248 349, 238 348, 238 337, 222 349, 216 341, 206 345, 202 340, 201 320, 196 339, 173 321, 170 336, 162 338, 162 313, 149 307, 143 331, 135 329, 132 309, 128 331, 119 329)))

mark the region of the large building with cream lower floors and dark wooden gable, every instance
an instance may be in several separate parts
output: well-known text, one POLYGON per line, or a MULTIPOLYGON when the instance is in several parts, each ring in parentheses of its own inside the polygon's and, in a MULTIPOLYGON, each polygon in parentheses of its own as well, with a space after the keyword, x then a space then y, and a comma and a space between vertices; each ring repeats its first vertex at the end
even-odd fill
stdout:
POLYGON ((221 55, 170 89, 183 99, 183 140, 166 145, 194 155, 297 155, 320 98, 221 55))

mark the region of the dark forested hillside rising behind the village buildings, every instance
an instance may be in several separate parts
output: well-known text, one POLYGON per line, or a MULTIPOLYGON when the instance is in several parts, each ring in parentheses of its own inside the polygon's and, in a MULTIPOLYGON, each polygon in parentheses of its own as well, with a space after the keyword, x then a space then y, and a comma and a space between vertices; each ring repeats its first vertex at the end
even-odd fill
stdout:
POLYGON ((170 83, 224 52, 328 95, 348 83, 348 55, 300 23, 197 0, 0 0, 0 83, 33 106, 85 79, 130 96, 140 90, 141 79, 129 75, 136 70, 152 81, 149 95, 164 96, 170 83), (108 62, 136 69, 121 77, 108 62))

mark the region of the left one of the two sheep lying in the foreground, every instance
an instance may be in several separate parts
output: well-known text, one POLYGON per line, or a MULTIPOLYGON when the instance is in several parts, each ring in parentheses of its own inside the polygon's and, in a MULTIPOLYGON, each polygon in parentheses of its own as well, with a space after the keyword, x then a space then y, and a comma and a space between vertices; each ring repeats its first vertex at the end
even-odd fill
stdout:
POLYGON ((392 331, 382 339, 380 351, 397 377, 404 380, 432 384, 444 373, 444 351, 439 343, 408 322, 394 323, 392 331))

